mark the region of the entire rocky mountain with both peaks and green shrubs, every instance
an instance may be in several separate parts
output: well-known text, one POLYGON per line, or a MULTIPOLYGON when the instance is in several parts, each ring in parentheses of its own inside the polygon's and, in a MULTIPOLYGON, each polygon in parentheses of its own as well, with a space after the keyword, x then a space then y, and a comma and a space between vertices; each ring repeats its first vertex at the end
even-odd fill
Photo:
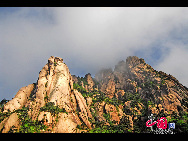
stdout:
POLYGON ((151 114, 188 132, 188 88, 136 56, 94 78, 51 56, 36 83, 0 104, 2 133, 148 133, 151 114))

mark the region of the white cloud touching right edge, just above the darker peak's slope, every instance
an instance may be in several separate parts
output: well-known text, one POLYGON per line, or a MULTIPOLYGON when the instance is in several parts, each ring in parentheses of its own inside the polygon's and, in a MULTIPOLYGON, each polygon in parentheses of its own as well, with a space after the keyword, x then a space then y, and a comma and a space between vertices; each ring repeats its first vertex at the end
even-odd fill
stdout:
POLYGON ((163 60, 156 66, 157 70, 162 70, 167 74, 175 76, 180 83, 188 86, 188 48, 182 44, 166 44, 170 48, 163 60))

